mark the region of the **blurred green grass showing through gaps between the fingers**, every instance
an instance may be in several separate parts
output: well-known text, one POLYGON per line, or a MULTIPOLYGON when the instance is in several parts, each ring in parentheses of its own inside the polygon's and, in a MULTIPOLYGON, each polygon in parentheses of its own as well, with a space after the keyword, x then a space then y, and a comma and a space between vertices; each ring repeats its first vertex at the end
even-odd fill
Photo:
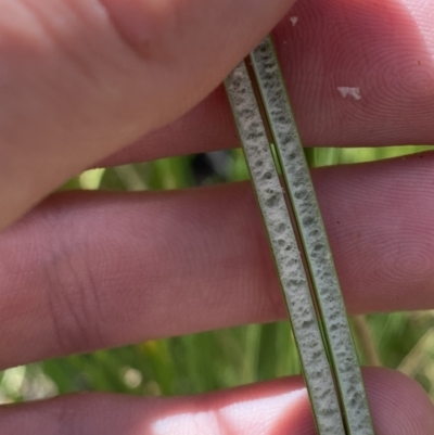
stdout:
MULTIPOLYGON (((310 149, 311 166, 388 158, 429 148, 310 149)), ((95 169, 64 189, 165 190, 245 180, 240 150, 95 169)), ((352 319, 362 363, 395 368, 434 399, 434 311, 352 319)), ((286 322, 153 341, 0 372, 0 404, 80 391, 146 396, 195 394, 299 372, 286 322)))

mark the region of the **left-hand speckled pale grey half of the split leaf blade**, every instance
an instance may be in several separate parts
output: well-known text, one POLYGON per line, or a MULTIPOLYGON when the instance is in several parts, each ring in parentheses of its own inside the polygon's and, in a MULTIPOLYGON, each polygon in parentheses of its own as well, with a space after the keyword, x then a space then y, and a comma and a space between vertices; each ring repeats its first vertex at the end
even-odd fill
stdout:
POLYGON ((345 435, 284 192, 244 63, 228 77, 226 88, 286 299, 319 434, 345 435))

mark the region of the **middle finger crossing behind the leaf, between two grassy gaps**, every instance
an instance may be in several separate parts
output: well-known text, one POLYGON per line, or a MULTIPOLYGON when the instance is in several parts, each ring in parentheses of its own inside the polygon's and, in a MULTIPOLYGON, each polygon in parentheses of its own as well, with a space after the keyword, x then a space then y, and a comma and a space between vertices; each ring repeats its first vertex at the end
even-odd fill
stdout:
MULTIPOLYGON (((434 307, 433 165, 315 172, 350 312, 434 307)), ((285 317, 246 183, 52 197, 0 236, 0 310, 2 368, 285 317)))

